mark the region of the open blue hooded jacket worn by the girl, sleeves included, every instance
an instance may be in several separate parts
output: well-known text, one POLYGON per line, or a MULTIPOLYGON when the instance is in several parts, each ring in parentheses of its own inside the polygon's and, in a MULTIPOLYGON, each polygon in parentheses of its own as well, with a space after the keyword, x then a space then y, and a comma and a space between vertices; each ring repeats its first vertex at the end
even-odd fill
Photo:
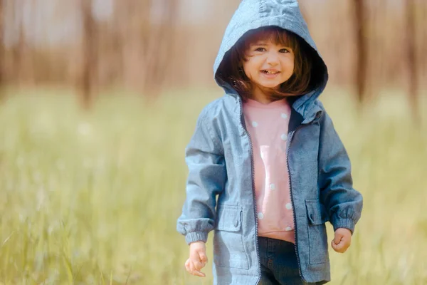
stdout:
MULTIPOLYGON (((177 222, 188 244, 206 242, 214 230, 214 284, 258 284, 260 278, 251 138, 241 97, 217 71, 243 33, 261 26, 297 33, 317 51, 295 0, 243 0, 226 29, 214 65, 226 93, 201 111, 186 147, 189 176, 177 222)), ((352 187, 349 157, 318 99, 327 83, 327 68, 319 59, 320 84, 292 98, 288 174, 300 274, 307 282, 323 284, 330 281, 325 222, 353 232, 362 195, 352 187)))

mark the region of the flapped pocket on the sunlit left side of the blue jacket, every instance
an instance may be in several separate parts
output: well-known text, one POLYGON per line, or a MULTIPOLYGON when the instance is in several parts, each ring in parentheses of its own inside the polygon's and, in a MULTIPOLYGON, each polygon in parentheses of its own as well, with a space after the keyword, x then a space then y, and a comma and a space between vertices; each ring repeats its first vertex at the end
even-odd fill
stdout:
POLYGON ((249 269, 248 254, 243 245, 242 207, 218 205, 214 231, 216 266, 249 269))

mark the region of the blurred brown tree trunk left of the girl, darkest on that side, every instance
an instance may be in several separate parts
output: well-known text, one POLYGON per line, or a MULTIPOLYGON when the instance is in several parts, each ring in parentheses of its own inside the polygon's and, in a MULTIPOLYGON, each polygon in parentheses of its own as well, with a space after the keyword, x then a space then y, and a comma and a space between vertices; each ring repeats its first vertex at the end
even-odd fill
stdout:
POLYGON ((80 0, 83 17, 83 65, 80 78, 80 103, 88 109, 93 103, 93 86, 97 71, 97 33, 92 0, 80 0))

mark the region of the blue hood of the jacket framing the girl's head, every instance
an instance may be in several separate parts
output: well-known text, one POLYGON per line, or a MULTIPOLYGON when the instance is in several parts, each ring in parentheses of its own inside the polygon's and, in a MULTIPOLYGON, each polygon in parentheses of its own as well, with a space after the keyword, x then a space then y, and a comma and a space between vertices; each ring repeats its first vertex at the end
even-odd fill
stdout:
MULTIPOLYGON (((317 68, 313 70, 313 78, 317 81, 315 89, 302 95, 293 104, 295 107, 310 105, 325 89, 328 80, 327 66, 317 51, 315 42, 310 36, 307 24, 302 18, 297 0, 243 0, 231 18, 223 36, 223 41, 219 48, 218 56, 214 63, 214 74, 216 83, 221 86, 226 93, 236 94, 228 83, 218 75, 218 68, 222 61, 228 60, 228 51, 238 42, 238 40, 248 31, 265 26, 278 26, 300 36, 311 48, 315 50, 315 60, 317 68)), ((302 113, 305 113, 302 111, 302 113)))

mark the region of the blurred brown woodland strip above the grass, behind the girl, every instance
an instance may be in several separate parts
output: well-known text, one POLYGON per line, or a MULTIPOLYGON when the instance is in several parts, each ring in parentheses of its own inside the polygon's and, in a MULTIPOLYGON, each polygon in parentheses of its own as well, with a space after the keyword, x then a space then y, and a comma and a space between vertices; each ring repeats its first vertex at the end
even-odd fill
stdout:
MULTIPOLYGON (((213 87, 211 66, 239 2, 3 0, 1 78, 144 95, 213 87)), ((427 73, 426 1, 300 2, 331 84, 371 95, 411 85, 416 95, 427 73)))

